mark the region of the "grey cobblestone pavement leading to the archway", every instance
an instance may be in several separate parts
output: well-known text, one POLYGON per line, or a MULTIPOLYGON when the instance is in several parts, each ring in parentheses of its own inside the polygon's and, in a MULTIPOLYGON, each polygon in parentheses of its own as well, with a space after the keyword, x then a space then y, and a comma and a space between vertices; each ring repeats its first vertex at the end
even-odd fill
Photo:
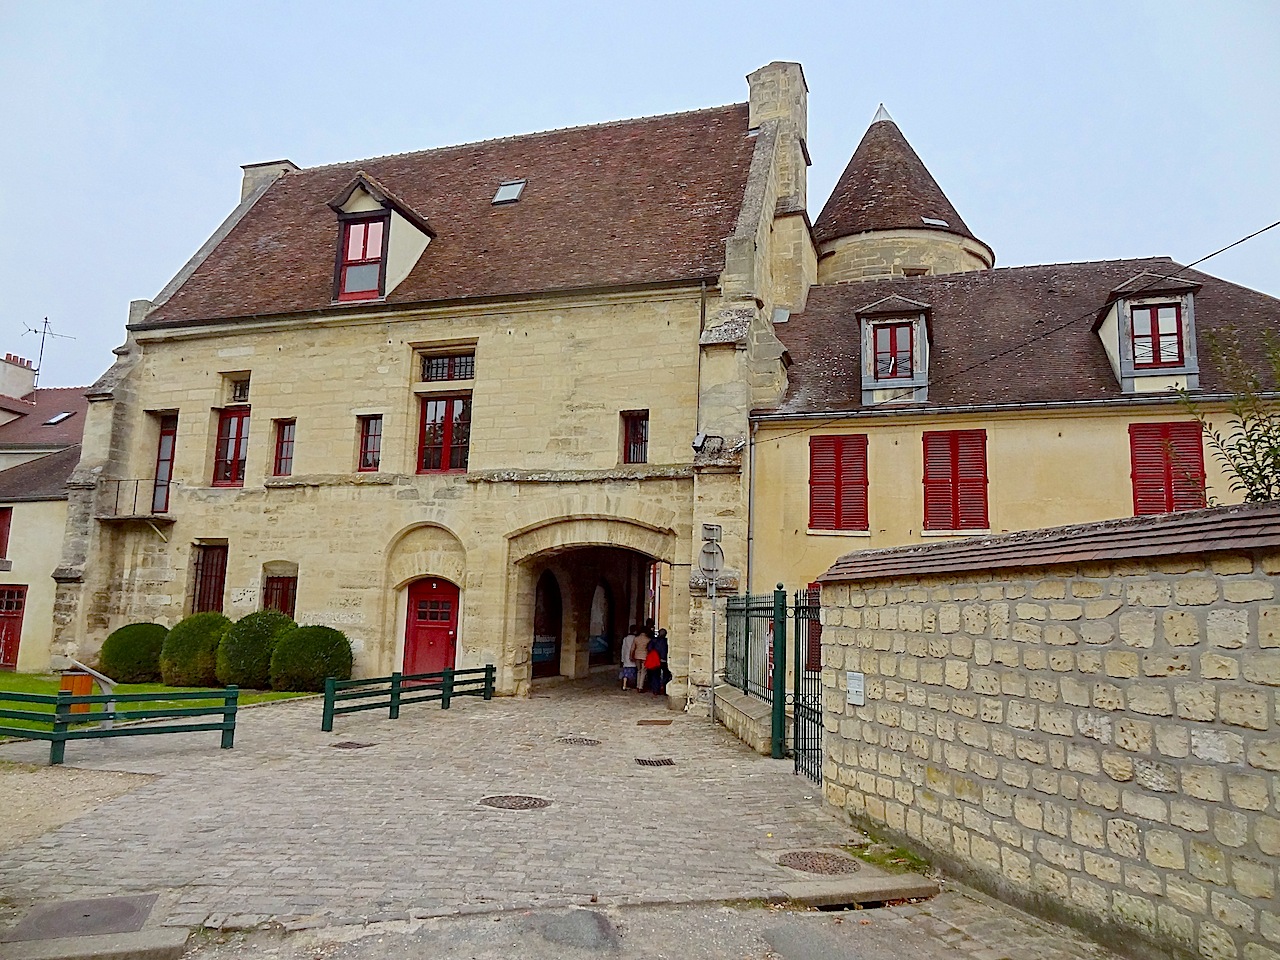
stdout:
MULTIPOLYGON (((47 746, 0 759, 40 763, 47 746)), ((0 854, 10 916, 143 891, 161 893, 154 918, 221 928, 750 897, 801 878, 778 852, 855 836, 788 762, 590 684, 410 705, 396 722, 351 714, 334 733, 320 732, 319 700, 275 703, 242 710, 234 750, 216 733, 127 737, 73 741, 67 760, 159 776, 0 854), (603 742, 559 742, 575 735, 603 742), (675 765, 636 763, 662 756, 675 765), (499 794, 552 805, 476 803, 499 794)))

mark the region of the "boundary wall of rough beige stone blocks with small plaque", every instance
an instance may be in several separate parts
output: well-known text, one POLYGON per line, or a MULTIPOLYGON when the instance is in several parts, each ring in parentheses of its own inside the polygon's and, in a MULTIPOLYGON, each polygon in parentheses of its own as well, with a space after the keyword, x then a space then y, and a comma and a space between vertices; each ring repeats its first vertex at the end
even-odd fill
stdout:
POLYGON ((1276 960, 1277 585, 1276 548, 824 582, 826 799, 1112 946, 1276 960))

